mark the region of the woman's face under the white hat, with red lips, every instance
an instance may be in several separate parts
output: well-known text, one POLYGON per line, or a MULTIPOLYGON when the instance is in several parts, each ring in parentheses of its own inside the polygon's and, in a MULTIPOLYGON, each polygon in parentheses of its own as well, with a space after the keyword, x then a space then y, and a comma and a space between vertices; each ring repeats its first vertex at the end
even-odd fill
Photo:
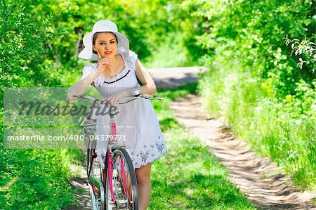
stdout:
POLYGON ((114 57, 117 53, 117 39, 110 32, 98 33, 96 35, 96 43, 93 44, 93 49, 102 58, 114 57))

